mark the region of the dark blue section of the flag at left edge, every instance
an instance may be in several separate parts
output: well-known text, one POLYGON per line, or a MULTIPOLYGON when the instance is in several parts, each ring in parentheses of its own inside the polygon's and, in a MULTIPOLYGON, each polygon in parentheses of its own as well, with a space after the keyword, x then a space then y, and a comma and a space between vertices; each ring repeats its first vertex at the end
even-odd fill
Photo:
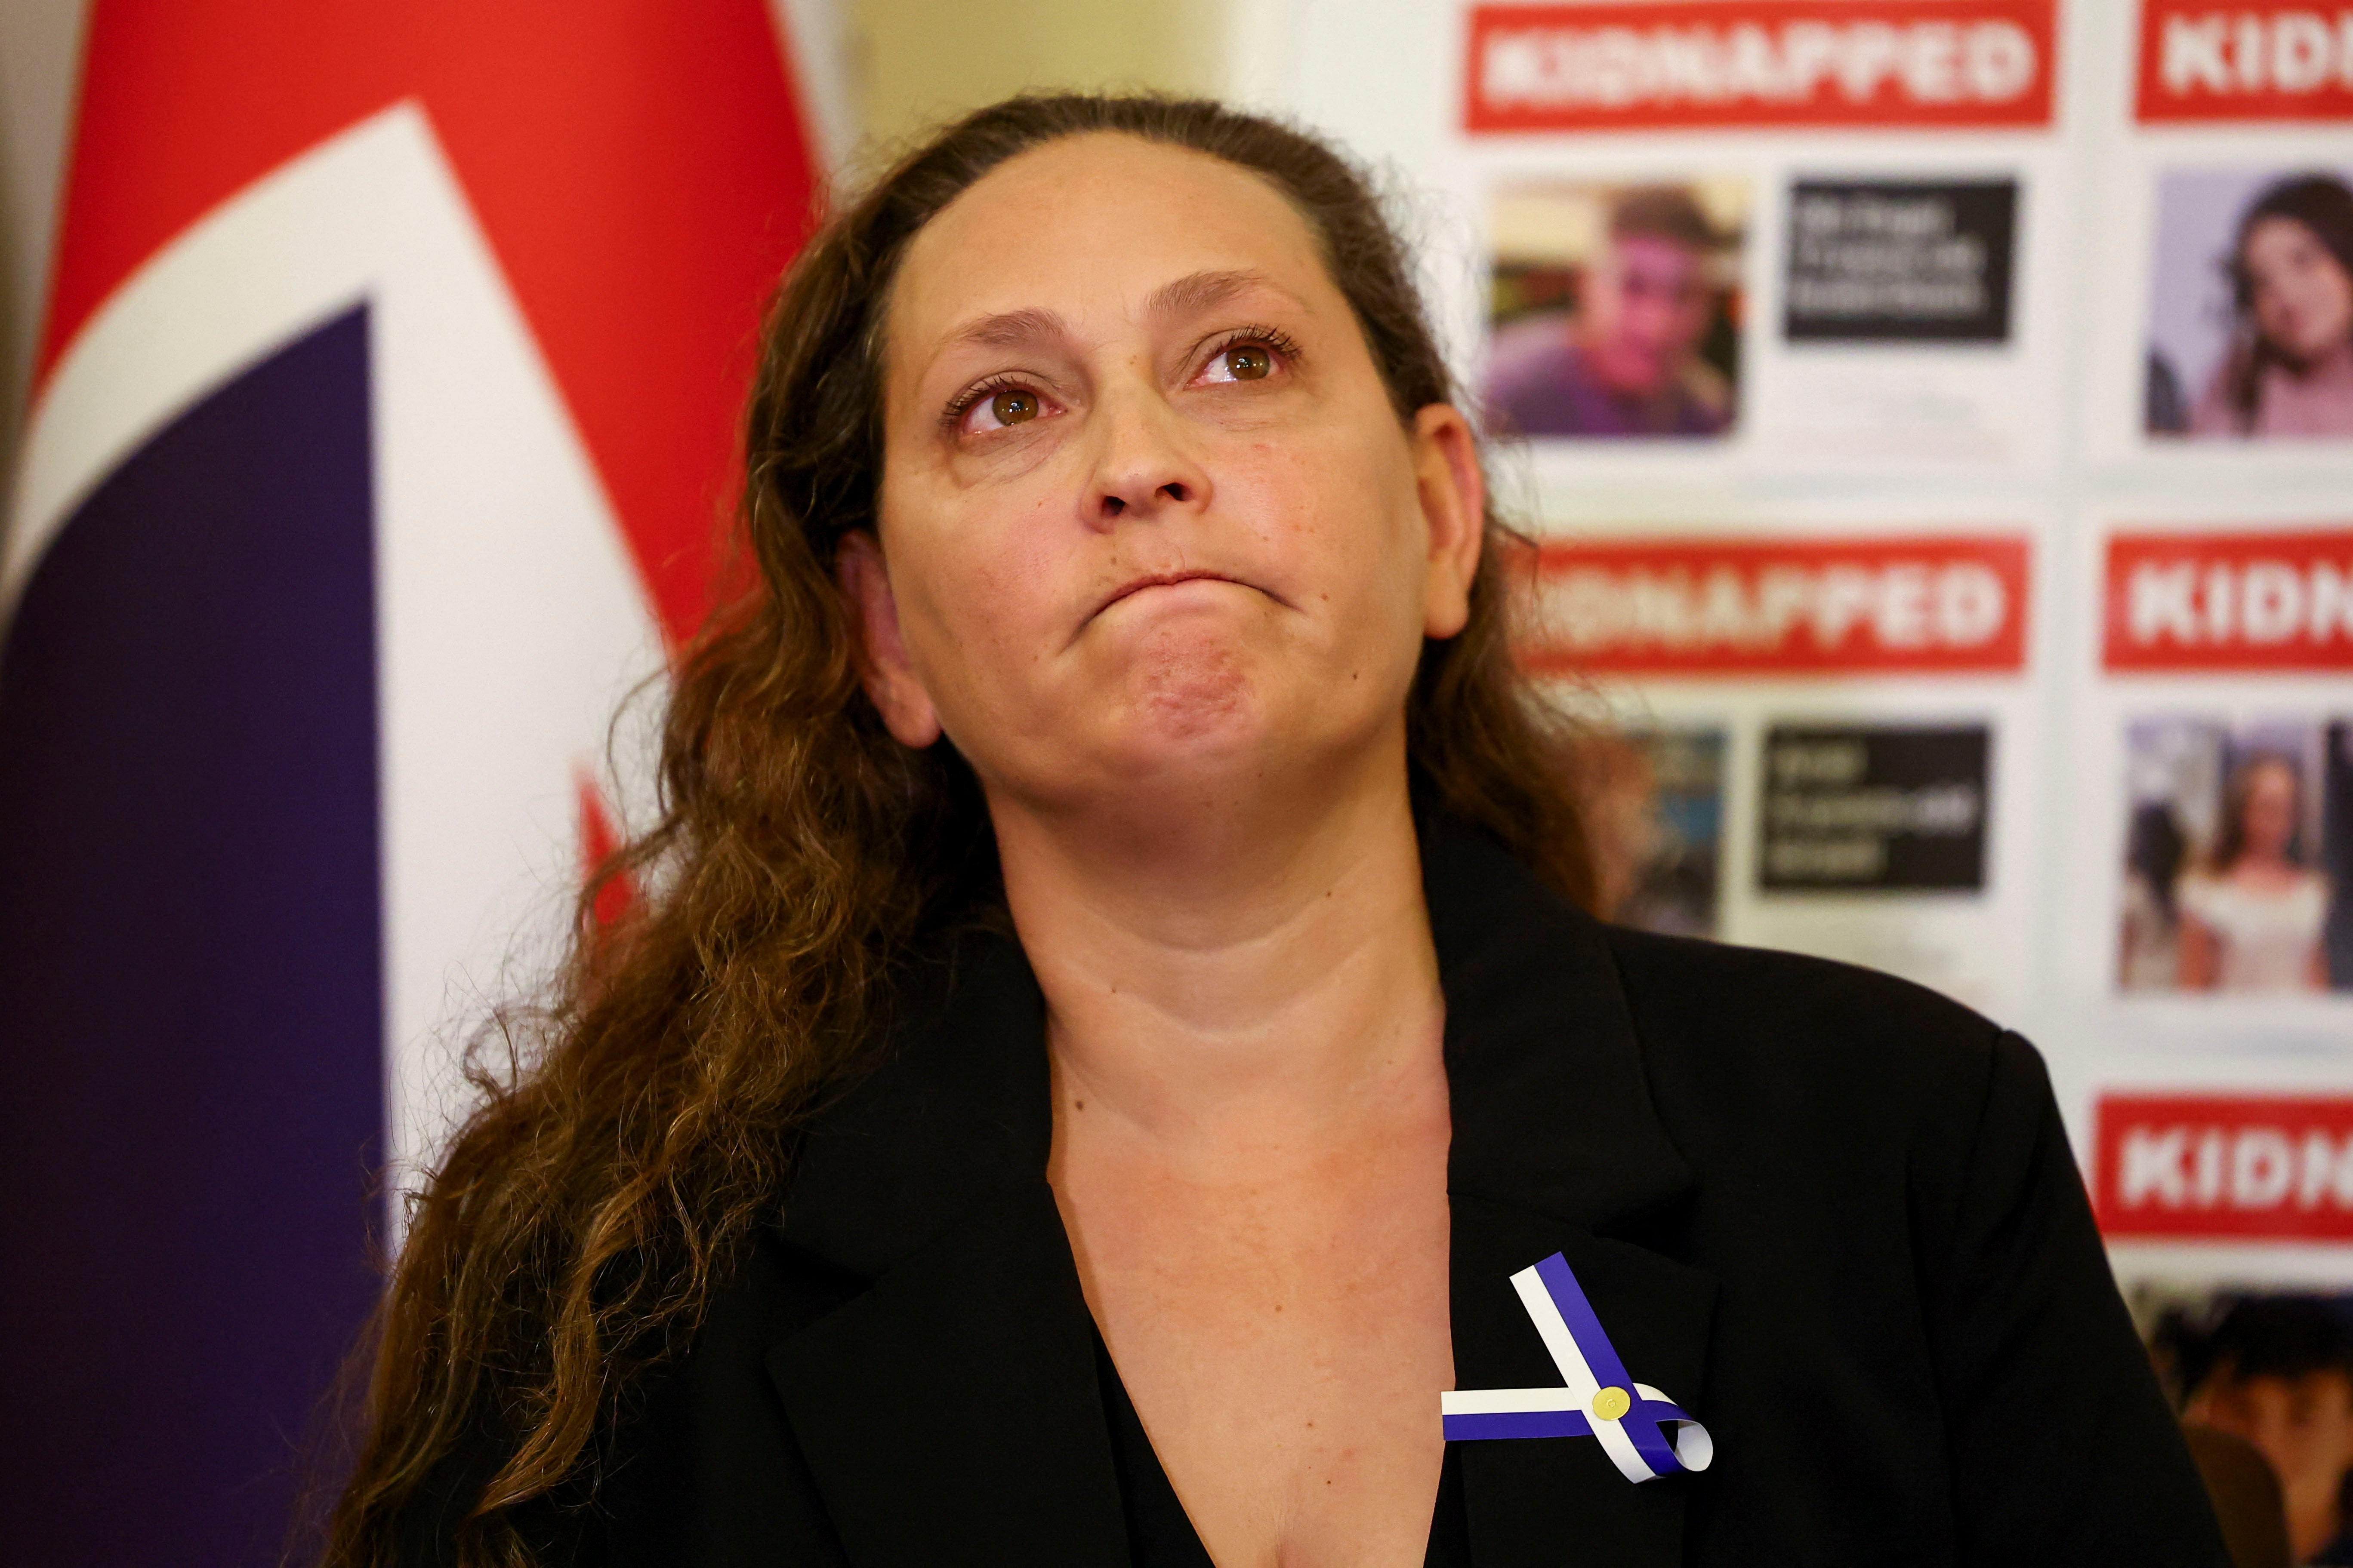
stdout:
POLYGON ((0 646, 0 1556, 273 1563, 374 1298, 367 313, 66 522, 0 646))

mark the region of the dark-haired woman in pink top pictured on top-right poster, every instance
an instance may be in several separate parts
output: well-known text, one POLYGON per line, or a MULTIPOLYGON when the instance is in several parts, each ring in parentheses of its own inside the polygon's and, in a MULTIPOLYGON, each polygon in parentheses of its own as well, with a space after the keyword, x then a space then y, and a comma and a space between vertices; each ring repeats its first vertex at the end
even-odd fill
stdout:
POLYGON ((2238 329, 2191 435, 2353 435, 2353 190, 2280 181, 2231 244, 2238 329))

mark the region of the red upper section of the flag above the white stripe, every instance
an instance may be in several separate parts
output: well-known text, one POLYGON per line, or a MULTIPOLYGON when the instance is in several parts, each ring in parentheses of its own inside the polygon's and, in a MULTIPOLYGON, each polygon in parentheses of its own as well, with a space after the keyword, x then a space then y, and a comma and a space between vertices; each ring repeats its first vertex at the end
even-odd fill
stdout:
POLYGON ((701 616, 809 136, 762 0, 96 0, 40 374, 254 179, 421 99, 628 534, 701 616))

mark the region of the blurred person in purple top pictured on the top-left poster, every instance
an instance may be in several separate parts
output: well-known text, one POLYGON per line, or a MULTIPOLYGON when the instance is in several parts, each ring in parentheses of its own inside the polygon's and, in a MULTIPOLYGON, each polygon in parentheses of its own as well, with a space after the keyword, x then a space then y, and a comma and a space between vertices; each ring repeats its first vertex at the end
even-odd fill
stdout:
POLYGON ((1497 331, 1487 407, 1520 435, 1722 435, 1732 386, 1699 357, 1722 244, 1689 190, 1619 193, 1577 310, 1497 331))

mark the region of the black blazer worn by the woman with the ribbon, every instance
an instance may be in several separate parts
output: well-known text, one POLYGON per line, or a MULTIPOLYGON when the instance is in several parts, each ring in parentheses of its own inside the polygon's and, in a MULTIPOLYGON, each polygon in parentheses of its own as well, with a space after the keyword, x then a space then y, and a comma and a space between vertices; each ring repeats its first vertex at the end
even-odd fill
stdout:
MULTIPOLYGON (((1480 1568, 2228 1561, 2026 1041, 1861 969, 1602 926, 1459 825, 1424 879, 1459 1385, 1560 1382, 1508 1284, 1560 1251, 1715 1439, 1642 1486, 1591 1439, 1459 1443, 1480 1568)), ((595 1502, 541 1512, 548 1561, 1125 1566, 1047 1140, 1038 985, 972 938, 814 1124, 595 1502)))

